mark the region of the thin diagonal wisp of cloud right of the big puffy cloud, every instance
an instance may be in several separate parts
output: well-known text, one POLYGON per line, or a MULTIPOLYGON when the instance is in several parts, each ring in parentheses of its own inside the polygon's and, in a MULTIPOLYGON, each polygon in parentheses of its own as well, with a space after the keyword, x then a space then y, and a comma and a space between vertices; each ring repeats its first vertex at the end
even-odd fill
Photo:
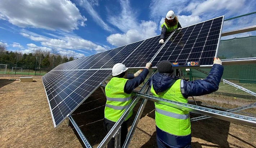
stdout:
MULTIPOLYGON (((111 27, 109 27, 108 24, 106 24, 103 21, 103 19, 99 16, 99 14, 93 9, 93 7, 89 3, 89 1, 87 1, 87 0, 77 0, 77 1, 78 1, 79 6, 85 8, 85 10, 91 15, 91 17, 93 17, 94 21, 100 27, 103 27, 103 29, 105 29, 106 31, 110 31, 110 32, 113 31, 113 29, 111 27)), ((91 0, 91 3, 93 3, 93 1, 97 1, 97 0, 91 0)))

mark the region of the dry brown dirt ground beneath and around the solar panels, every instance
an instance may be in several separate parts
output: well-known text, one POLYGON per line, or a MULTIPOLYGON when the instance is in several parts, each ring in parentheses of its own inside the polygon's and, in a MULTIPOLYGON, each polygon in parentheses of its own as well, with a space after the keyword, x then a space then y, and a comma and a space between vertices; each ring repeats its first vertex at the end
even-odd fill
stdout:
MULTIPOLYGON (((41 77, 34 77, 36 82, 19 82, 0 76, 0 147, 83 147, 83 143, 75 129, 63 122, 57 129, 53 126, 41 77), (82 144, 81 144, 82 143, 82 144)), ((235 108, 255 102, 220 98, 213 96, 196 97, 198 105, 204 103, 235 108), (215 98, 216 97, 216 98, 215 98), (232 102, 232 103, 229 103, 232 102), (239 105, 239 102, 241 105, 239 105)), ((191 98, 190 98, 191 99, 191 98)), ((103 129, 105 97, 101 89, 97 89, 80 107, 73 112, 73 118, 93 147, 99 145, 105 137, 103 129)), ((133 110, 128 122, 130 127, 139 108, 141 100, 133 110)), ((256 114, 256 108, 244 110, 256 114)), ((129 145, 130 148, 156 148, 156 128, 154 121, 154 104, 148 101, 143 115, 129 145)), ((192 114, 193 116, 198 116, 192 114)), ((256 128, 234 124, 214 117, 193 121, 193 148, 256 148, 256 128)))

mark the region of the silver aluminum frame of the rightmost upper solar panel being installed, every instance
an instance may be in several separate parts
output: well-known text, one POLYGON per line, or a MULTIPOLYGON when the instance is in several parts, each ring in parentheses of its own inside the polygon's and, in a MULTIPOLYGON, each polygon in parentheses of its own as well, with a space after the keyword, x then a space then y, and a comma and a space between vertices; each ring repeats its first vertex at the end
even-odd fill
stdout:
MULTIPOLYGON (((219 39, 218 39, 218 42, 217 42, 217 47, 216 47, 216 53, 215 53, 215 57, 217 56, 217 51, 218 51, 218 48, 219 48, 219 43, 220 43, 220 39, 221 39, 221 31, 222 31, 222 28, 223 28, 223 22, 224 22, 224 15, 220 16, 220 17, 223 17, 222 19, 222 23, 221 23, 221 28, 220 28, 220 35, 219 35, 219 39)), ((220 18, 220 17, 216 17, 216 18, 220 18)), ((209 19, 209 20, 213 20, 213 19, 216 19, 216 18, 212 18, 212 19, 209 19)), ((203 22, 207 22, 208 20, 205 20, 203 22)), ((200 22, 200 23, 203 23, 203 22, 200 22)), ((198 24, 198 23, 197 23, 198 24)), ((193 25, 196 25, 196 24, 192 24, 190 26, 193 26, 193 25)), ((187 27, 190 27, 190 26, 187 26, 187 27)), ((187 28, 187 27, 184 27, 184 28, 187 28)), ((181 28, 182 29, 182 28, 181 28)), ((167 39, 169 40, 172 35, 176 32, 177 30, 175 30, 171 35, 170 37, 167 39)), ((164 45, 167 43, 167 40, 166 42, 163 44, 163 46, 160 48, 160 50, 158 51, 158 53, 154 56, 154 58, 152 59, 151 62, 154 61, 154 59, 157 57, 157 55, 160 53, 161 49, 164 47, 164 45)), ((180 69, 180 68, 193 68, 193 69, 197 69, 197 68, 211 68, 212 65, 199 65, 199 66, 176 66, 176 67, 173 67, 173 69, 180 69)), ((152 69, 157 69, 156 66, 152 67, 152 69)))

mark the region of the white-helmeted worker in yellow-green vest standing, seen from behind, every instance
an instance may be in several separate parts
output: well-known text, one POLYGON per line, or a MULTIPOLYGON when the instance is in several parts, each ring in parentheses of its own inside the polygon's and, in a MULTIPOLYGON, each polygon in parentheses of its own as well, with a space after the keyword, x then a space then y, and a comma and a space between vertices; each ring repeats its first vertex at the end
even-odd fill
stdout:
MULTIPOLYGON (((113 78, 105 87, 107 103, 104 112, 104 129, 107 133, 131 103, 131 92, 145 80, 151 65, 151 63, 147 63, 143 70, 139 70, 135 74, 127 74, 128 68, 121 63, 113 66, 113 78)), ((121 147, 128 133, 127 120, 132 114, 133 112, 131 111, 121 125, 121 147)), ((114 138, 108 143, 108 148, 114 148, 114 138)))

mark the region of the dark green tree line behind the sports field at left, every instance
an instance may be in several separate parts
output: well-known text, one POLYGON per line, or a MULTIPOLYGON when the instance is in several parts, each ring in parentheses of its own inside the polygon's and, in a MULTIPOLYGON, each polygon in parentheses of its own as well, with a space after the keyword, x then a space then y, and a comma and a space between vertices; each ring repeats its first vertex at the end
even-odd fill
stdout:
POLYGON ((38 49, 28 54, 22 54, 18 51, 8 51, 6 45, 0 43, 0 64, 7 64, 9 69, 17 66, 24 69, 44 69, 49 71, 59 64, 72 60, 74 60, 74 57, 60 55, 56 52, 56 49, 53 49, 53 53, 38 49))

